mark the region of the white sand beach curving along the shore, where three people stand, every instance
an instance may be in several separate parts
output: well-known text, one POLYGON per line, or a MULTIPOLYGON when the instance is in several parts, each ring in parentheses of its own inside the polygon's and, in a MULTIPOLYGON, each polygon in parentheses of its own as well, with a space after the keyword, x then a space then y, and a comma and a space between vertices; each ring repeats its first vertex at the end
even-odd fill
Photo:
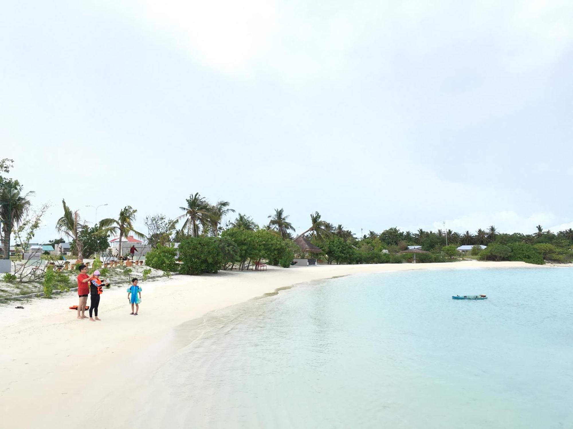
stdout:
MULTIPOLYGON (((0 427, 130 427, 126 404, 176 352, 175 328, 208 312, 333 276, 418 269, 540 268, 521 262, 270 267, 141 283, 140 314, 125 289, 101 297, 101 321, 77 320, 75 292, 0 305, 0 427), (24 309, 15 309, 23 305, 24 309), (136 373, 129 371, 136 362, 136 373)), ((549 268, 549 267, 548 267, 549 268)), ((88 301, 89 305, 89 301, 88 301)), ((161 410, 158 410, 160 413, 161 410)))

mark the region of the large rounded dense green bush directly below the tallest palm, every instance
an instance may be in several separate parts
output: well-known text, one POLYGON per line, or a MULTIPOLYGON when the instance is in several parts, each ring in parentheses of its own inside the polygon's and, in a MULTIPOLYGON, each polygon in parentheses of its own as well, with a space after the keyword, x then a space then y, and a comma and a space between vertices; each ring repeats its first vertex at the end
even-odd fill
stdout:
POLYGON ((223 265, 223 253, 217 241, 211 237, 182 240, 178 250, 182 262, 179 272, 182 274, 216 273, 223 265))

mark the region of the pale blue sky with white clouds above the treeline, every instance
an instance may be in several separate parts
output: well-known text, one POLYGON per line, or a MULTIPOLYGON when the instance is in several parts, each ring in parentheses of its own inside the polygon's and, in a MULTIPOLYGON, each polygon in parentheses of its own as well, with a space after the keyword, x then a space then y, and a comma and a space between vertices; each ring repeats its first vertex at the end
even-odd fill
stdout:
MULTIPOLYGON (((3 2, 0 158, 50 202, 191 193, 356 234, 573 227, 571 1, 3 2)), ((232 219, 231 219, 232 220, 232 219)))

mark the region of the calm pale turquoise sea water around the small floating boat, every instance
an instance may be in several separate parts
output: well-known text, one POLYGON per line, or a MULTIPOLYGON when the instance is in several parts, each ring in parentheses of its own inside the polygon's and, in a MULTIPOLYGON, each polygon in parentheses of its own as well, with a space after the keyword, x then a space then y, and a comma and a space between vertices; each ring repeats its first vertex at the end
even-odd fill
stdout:
POLYGON ((340 277, 188 328, 193 340, 151 380, 154 424, 573 427, 570 268, 340 277))

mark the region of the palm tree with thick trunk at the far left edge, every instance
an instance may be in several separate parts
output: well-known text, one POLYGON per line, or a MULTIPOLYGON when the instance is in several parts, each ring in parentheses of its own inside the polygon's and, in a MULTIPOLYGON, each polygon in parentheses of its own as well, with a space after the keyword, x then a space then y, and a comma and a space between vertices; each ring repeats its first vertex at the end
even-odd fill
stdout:
POLYGON ((25 194, 22 192, 23 186, 17 182, 7 181, 0 187, 0 223, 2 224, 0 240, 6 259, 10 256, 12 229, 23 221, 32 205, 30 197, 34 192, 30 191, 25 194))

